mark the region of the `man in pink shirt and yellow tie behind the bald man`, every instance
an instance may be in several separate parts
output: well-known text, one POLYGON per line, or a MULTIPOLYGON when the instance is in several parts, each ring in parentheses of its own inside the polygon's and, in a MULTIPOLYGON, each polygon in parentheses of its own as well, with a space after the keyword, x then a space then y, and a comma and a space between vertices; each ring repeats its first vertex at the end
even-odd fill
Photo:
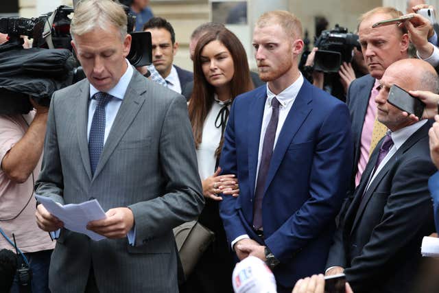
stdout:
POLYGON ((372 25, 378 21, 393 19, 401 15, 402 13, 394 8, 379 7, 360 17, 359 43, 370 74, 354 80, 346 95, 346 104, 351 113, 354 141, 351 193, 359 185, 370 154, 387 130, 377 121, 377 106, 375 105, 375 97, 378 94, 377 86, 385 69, 397 60, 408 58, 409 39, 418 50, 420 58, 429 60, 433 53, 434 46, 427 42, 428 29, 422 30, 418 26, 414 27, 409 21, 405 23, 405 26, 387 25, 372 28, 372 25))

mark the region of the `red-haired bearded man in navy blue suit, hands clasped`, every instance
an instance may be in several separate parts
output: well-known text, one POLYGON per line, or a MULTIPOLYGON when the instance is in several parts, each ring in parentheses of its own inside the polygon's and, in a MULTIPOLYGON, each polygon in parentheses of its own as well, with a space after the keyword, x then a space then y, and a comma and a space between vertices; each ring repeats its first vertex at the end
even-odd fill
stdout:
POLYGON ((239 259, 266 261, 278 292, 323 272, 351 176, 348 108, 302 77, 301 36, 289 12, 257 21, 253 46, 268 83, 235 99, 219 161, 239 181, 239 197, 219 206, 228 242, 239 259))

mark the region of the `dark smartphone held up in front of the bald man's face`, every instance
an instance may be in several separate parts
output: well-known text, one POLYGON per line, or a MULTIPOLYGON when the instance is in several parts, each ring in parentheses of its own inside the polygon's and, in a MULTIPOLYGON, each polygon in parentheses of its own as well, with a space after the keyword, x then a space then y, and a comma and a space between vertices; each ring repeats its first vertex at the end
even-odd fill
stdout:
POLYGON ((425 104, 396 84, 390 88, 388 102, 401 111, 414 114, 419 119, 423 116, 425 104))

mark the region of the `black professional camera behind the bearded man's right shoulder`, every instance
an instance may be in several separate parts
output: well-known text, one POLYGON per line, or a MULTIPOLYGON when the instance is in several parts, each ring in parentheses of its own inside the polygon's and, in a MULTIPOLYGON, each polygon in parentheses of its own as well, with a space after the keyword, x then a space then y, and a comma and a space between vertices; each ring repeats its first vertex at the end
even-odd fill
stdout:
POLYGON ((314 47, 318 47, 318 51, 313 69, 325 73, 338 72, 342 62, 351 62, 354 47, 361 51, 358 36, 339 25, 335 25, 333 30, 323 31, 314 47))

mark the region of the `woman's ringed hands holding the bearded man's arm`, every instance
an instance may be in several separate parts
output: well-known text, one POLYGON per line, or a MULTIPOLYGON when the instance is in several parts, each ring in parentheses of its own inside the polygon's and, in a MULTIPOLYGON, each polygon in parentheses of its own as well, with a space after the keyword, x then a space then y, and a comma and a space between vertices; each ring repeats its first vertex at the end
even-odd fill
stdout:
POLYGON ((218 176, 221 173, 221 167, 212 175, 202 180, 203 196, 212 200, 222 200, 217 194, 227 194, 237 197, 239 195, 238 180, 234 174, 218 176))

